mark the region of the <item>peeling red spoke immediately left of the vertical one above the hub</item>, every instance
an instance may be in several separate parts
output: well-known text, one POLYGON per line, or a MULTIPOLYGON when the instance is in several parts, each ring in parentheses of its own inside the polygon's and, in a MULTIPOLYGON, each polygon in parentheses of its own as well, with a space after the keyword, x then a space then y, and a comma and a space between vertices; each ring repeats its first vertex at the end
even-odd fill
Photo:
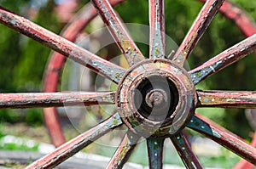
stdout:
POLYGON ((125 55, 125 59, 128 64, 134 65, 144 59, 143 54, 137 48, 135 42, 133 42, 129 33, 125 30, 125 26, 119 19, 118 14, 115 13, 108 0, 91 0, 95 5, 98 13, 102 16, 102 20, 105 25, 108 26, 108 30, 113 36, 113 39, 118 44, 122 54, 125 55))

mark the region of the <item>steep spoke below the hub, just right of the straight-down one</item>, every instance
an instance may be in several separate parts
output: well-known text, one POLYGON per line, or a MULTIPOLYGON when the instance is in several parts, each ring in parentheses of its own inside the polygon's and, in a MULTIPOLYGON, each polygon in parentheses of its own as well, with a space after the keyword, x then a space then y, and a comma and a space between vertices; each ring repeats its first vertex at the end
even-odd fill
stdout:
POLYGON ((178 155, 180 155, 186 168, 203 168, 198 161, 196 155, 193 153, 189 141, 183 136, 183 133, 177 133, 175 136, 171 137, 172 144, 177 149, 178 155))

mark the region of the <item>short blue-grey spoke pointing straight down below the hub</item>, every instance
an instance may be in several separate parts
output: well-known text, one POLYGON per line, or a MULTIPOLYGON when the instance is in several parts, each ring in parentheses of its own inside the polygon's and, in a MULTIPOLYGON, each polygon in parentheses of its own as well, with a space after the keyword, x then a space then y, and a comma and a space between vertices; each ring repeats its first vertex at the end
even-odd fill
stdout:
POLYGON ((150 169, 161 169, 163 166, 163 138, 147 138, 148 161, 150 169))

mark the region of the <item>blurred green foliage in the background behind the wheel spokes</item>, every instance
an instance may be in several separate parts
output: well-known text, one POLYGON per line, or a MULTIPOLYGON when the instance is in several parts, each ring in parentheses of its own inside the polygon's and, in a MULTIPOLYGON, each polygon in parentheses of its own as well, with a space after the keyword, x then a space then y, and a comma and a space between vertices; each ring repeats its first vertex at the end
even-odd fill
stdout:
MULTIPOLYGON (((256 1, 232 0, 232 2, 240 5, 253 19, 256 19, 256 1)), ((32 1, 30 0, 20 0, 15 1, 14 5, 13 1, 0 0, 0 4, 3 7, 24 16, 26 16, 27 9, 31 7, 31 3, 32 1)), ((177 44, 182 42, 202 5, 202 3, 197 1, 166 0, 166 34, 172 37, 177 44)), ((79 6, 82 6, 82 2, 79 6)), ((37 16, 32 20, 50 31, 59 33, 62 25, 55 16, 54 7, 55 3, 48 1, 46 5, 39 8, 37 16)), ((116 10, 125 23, 148 25, 148 1, 126 1, 116 7, 116 10)), ((0 35, 0 92, 40 91, 44 66, 46 65, 50 50, 38 42, 33 42, 15 31, 9 30, 3 25, 0 25, 0 35)), ((232 20, 226 19, 222 14, 217 14, 207 29, 206 34, 195 48, 195 51, 189 57, 189 67, 192 69, 196 65, 200 65, 244 38, 232 20)), ((145 54, 148 54, 148 48, 141 44, 138 44, 138 46, 143 48, 145 54)), ((197 88, 255 90, 255 59, 256 57, 251 54, 218 74, 207 78, 197 88)), ((31 124, 37 121, 39 121, 39 124, 42 123, 41 110, 23 111, 26 111, 29 117, 20 118, 20 110, 1 110, 0 120, 10 122, 27 121, 31 124), (7 112, 10 113, 7 114, 7 112)), ((247 119, 243 113, 244 110, 201 109, 199 112, 212 120, 218 121, 220 125, 227 127, 232 132, 238 133, 243 138, 248 138, 249 132, 253 131, 248 126, 247 119)))

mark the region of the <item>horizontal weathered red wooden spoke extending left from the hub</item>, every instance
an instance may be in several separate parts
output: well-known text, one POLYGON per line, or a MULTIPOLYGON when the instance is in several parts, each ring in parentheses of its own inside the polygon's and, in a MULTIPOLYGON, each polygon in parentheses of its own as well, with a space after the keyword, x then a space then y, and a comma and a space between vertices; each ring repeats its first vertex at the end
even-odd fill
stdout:
POLYGON ((0 93, 0 109, 114 104, 114 93, 0 93))

